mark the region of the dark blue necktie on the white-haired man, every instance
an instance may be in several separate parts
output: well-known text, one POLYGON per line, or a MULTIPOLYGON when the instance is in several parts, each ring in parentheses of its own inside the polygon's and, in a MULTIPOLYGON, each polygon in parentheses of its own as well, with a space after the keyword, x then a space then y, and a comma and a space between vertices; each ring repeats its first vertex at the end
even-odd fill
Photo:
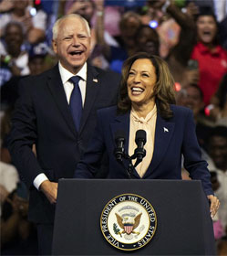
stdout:
POLYGON ((79 80, 80 80, 80 77, 78 76, 70 78, 70 81, 74 84, 74 88, 71 93, 69 108, 72 113, 73 121, 76 126, 77 132, 79 130, 79 123, 80 123, 81 114, 82 114, 82 98, 81 98, 81 92, 78 87, 79 80))

